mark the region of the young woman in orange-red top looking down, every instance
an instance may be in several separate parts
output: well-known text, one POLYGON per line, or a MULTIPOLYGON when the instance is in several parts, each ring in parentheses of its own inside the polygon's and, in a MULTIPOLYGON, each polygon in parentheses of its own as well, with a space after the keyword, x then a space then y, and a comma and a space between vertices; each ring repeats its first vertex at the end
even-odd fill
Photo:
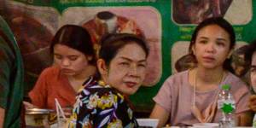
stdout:
POLYGON ((84 81, 96 73, 96 54, 90 34, 81 26, 62 26, 52 40, 50 51, 54 65, 44 69, 29 92, 32 105, 55 109, 57 98, 62 108, 73 107, 84 81))

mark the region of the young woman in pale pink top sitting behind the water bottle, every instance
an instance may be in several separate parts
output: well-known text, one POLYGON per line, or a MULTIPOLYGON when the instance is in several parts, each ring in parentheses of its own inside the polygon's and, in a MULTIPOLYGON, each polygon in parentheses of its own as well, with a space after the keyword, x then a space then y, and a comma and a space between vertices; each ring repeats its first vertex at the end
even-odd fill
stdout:
POLYGON ((246 84, 230 73, 228 57, 235 46, 235 32, 223 18, 203 20, 192 35, 189 54, 196 59, 196 67, 166 79, 157 96, 150 118, 160 119, 162 127, 170 118, 171 125, 218 122, 219 87, 231 85, 236 100, 238 125, 251 125, 246 84))

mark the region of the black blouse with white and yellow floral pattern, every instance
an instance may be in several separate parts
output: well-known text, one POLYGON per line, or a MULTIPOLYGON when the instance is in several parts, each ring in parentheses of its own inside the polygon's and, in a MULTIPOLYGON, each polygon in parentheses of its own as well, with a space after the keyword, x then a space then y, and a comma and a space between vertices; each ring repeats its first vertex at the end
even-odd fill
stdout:
POLYGON ((138 127, 125 98, 109 85, 100 85, 92 77, 84 84, 74 104, 70 128, 138 127))

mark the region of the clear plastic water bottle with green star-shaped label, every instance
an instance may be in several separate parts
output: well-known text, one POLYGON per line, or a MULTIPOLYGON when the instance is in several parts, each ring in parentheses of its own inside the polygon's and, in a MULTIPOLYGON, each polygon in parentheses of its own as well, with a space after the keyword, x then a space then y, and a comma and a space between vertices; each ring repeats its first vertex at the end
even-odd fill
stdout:
POLYGON ((224 84, 218 94, 218 110, 222 112, 219 120, 220 128, 232 128, 236 126, 235 110, 236 102, 230 93, 230 84, 224 84))

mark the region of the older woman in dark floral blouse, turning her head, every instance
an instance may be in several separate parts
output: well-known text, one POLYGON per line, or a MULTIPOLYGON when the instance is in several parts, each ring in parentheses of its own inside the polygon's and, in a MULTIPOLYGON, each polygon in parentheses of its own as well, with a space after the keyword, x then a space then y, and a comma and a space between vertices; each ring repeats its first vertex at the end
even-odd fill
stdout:
POLYGON ((146 74, 148 46, 132 34, 109 34, 101 40, 97 68, 77 96, 69 127, 138 127, 126 96, 146 74))

